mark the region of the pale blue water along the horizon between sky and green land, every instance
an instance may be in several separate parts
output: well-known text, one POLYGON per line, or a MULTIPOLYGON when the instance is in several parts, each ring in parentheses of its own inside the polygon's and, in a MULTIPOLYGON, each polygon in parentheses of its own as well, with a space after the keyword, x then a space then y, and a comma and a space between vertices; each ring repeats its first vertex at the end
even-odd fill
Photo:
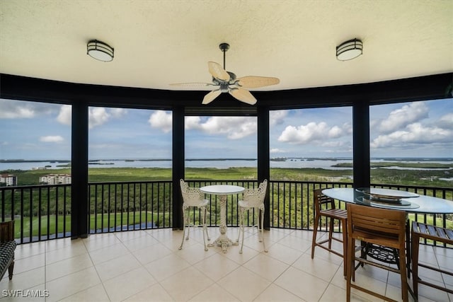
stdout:
MULTIPOLYGON (((453 158, 376 158, 372 163, 394 162, 392 169, 406 170, 434 170, 426 168, 402 168, 398 163, 449 163, 453 165, 453 158)), ((285 158, 285 160, 270 161, 270 168, 323 168, 329 170, 351 170, 352 168, 334 167, 338 163, 352 163, 351 159, 344 158, 285 158)), ((66 168, 58 165, 66 165, 67 161, 27 161, 27 162, 0 162, 0 170, 36 170, 66 168)), ((170 160, 102 160, 92 161, 90 168, 171 168, 170 160)), ((231 168, 231 167, 256 167, 256 160, 227 159, 227 160, 188 160, 185 161, 187 168, 231 168)), ((435 169, 439 170, 439 169, 435 169)), ((447 169, 443 169, 447 170, 447 169)))

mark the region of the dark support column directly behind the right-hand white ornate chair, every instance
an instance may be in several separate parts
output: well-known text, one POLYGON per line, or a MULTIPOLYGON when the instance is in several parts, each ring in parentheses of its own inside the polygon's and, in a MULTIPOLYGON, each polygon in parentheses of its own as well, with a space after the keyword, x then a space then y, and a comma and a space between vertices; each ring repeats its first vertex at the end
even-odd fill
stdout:
POLYGON ((268 193, 264 200, 264 228, 270 227, 270 155, 269 155, 269 108, 258 106, 258 182, 268 180, 268 193))

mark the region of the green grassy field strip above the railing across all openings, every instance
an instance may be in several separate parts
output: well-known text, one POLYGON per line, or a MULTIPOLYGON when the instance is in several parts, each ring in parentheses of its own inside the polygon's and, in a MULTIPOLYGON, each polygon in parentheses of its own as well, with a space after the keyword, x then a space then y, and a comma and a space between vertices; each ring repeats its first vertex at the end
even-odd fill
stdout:
MULTIPOLYGON (((343 164, 341 164, 343 165, 343 164)), ((346 164, 349 165, 349 164, 346 164)), ((371 182, 389 185, 419 185, 420 187, 452 187, 453 170, 403 170, 389 169, 395 163, 379 163, 372 168, 371 182)), ((408 163, 404 163, 408 165, 408 163)), ((432 165, 432 164, 430 164, 432 165)), ((425 168, 425 163, 411 163, 407 168, 425 168)), ((444 165, 436 168, 446 168, 444 165)), ((13 173, 18 177, 18 185, 38 185, 40 176, 50 173, 71 173, 70 168, 54 170, 8 170, 0 173, 13 173)), ((186 180, 256 180, 256 168, 186 168, 186 180)), ((90 168, 89 182, 125 182, 171 180, 169 168, 90 168)), ((322 168, 271 168, 270 180, 293 181, 338 181, 352 182, 352 170, 328 170, 322 168)))

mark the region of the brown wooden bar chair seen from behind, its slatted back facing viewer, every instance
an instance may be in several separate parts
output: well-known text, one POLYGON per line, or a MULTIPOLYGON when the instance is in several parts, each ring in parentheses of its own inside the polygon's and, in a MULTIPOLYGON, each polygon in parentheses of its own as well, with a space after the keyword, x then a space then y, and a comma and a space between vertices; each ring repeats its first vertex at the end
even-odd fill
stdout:
POLYGON ((346 301, 350 301, 351 287, 386 301, 393 299, 351 282, 355 281, 355 261, 396 272, 401 276, 401 296, 408 301, 408 280, 406 272, 406 212, 393 209, 379 209, 358 204, 347 204, 348 211, 348 253, 346 276, 346 301), (369 261, 355 255, 355 240, 372 243, 398 250, 399 268, 369 261))

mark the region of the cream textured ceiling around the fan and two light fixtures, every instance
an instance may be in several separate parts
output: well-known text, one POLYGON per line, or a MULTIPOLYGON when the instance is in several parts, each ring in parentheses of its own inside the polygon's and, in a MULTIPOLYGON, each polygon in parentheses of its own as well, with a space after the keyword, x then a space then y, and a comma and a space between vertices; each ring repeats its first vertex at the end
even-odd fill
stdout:
POLYGON ((0 0, 2 74, 181 89, 168 84, 211 80, 221 42, 227 70, 280 78, 261 90, 441 74, 453 71, 453 1, 0 0), (338 61, 354 37, 363 55, 338 61), (91 39, 113 62, 86 55, 91 39))

